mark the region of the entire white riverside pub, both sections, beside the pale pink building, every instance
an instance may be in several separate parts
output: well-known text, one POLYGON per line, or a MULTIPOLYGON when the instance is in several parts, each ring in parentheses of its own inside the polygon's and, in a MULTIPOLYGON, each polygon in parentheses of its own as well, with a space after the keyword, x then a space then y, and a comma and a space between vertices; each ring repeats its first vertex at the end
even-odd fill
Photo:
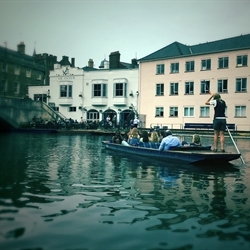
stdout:
POLYGON ((138 109, 138 68, 98 69, 55 64, 50 86, 29 87, 29 97, 43 94, 43 101, 68 119, 99 122, 110 116, 120 125, 134 118, 138 109))

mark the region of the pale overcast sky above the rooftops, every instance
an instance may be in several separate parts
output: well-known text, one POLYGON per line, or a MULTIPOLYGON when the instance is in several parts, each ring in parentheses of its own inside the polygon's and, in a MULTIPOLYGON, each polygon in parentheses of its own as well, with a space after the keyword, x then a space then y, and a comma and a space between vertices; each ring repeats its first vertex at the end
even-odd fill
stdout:
POLYGON ((24 42, 28 55, 65 55, 77 67, 249 33, 250 0, 0 0, 0 46, 24 42))

